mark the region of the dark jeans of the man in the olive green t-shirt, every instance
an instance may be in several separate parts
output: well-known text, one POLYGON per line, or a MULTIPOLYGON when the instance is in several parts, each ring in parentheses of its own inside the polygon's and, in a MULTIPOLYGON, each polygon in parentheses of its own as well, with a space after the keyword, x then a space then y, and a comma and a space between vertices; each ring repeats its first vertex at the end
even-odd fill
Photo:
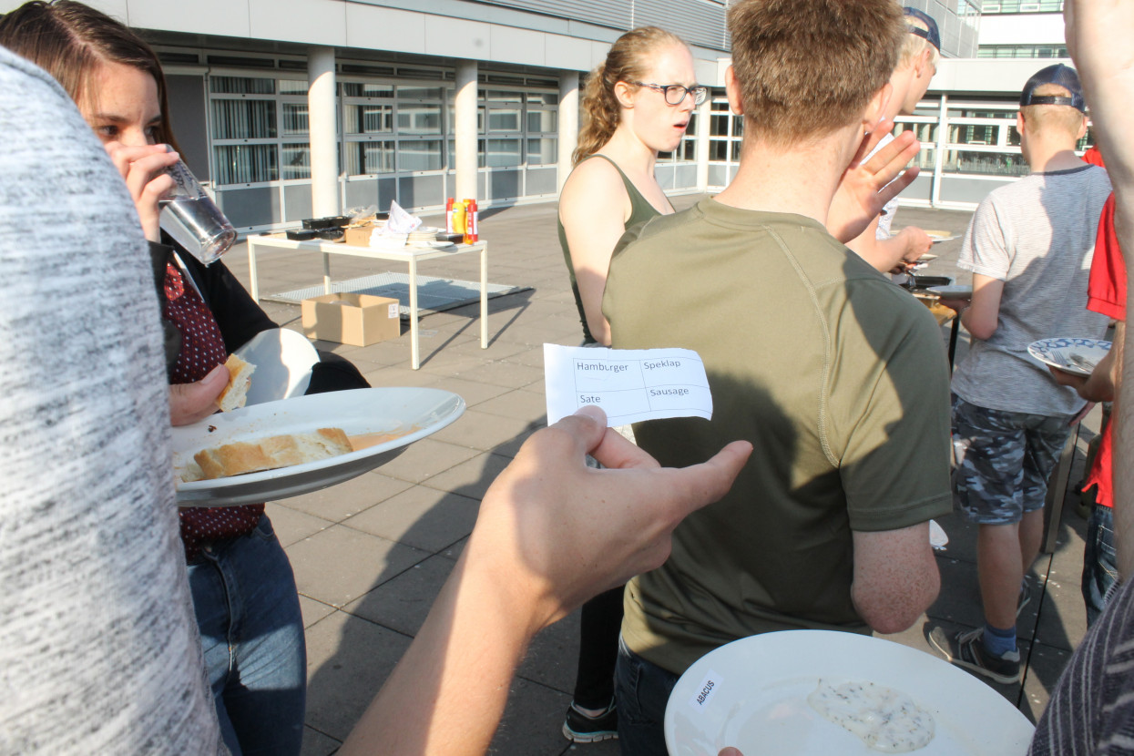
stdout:
POLYGON ((615 702, 621 756, 667 756, 662 723, 669 694, 679 677, 645 661, 618 640, 615 702))

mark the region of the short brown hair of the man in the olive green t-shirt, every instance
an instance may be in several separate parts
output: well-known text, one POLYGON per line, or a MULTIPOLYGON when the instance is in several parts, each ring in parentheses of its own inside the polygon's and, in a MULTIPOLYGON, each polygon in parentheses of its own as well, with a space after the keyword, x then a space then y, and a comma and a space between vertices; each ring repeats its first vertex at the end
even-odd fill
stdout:
POLYGON ((728 10, 745 134, 788 145, 858 119, 897 65, 894 0, 738 0, 728 10))

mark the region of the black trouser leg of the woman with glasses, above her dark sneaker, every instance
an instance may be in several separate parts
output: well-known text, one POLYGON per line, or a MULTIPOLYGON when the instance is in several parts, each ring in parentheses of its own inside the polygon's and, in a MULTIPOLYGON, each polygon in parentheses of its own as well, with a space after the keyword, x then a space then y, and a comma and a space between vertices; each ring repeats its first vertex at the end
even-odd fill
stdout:
POLYGON ((615 696, 615 661, 623 627, 623 586, 583 604, 579 619, 575 705, 606 708, 615 696))

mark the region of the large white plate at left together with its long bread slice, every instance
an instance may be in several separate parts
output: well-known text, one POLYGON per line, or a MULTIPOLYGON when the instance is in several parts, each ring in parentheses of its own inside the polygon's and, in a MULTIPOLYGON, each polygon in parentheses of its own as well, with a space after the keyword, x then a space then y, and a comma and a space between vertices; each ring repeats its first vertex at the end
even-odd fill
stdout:
POLYGON ((172 428, 177 503, 230 507, 325 489, 386 464, 464 411, 465 400, 450 391, 383 388, 210 415, 172 428))

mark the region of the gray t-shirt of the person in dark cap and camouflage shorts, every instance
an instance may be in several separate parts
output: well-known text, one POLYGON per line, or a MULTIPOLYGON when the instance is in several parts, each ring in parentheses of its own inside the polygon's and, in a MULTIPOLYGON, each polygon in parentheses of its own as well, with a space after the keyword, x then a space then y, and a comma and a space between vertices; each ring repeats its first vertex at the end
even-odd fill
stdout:
POLYGON ((1027 354, 1040 339, 1101 339, 1108 318, 1086 309, 1094 236, 1110 194, 1095 165, 1032 173, 993 189, 973 215, 957 266, 1004 281, 997 330, 973 339, 953 376, 965 401, 1014 413, 1072 415, 1083 406, 1027 354))

